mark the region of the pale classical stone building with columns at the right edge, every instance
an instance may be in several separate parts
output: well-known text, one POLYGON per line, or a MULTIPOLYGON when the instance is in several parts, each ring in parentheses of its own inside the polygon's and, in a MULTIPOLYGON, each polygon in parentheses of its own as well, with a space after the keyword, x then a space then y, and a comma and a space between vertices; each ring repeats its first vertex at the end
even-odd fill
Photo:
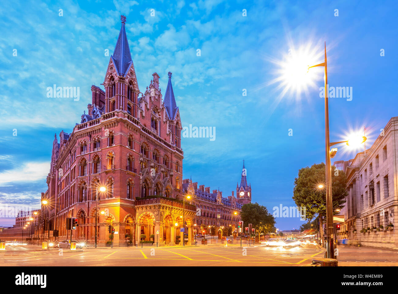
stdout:
POLYGON ((396 116, 366 152, 348 162, 335 162, 335 166, 345 166, 348 180, 348 196, 341 210, 345 222, 337 231, 339 240, 347 238, 365 246, 398 249, 397 143, 396 116), (395 227, 387 227, 390 223, 395 227))

